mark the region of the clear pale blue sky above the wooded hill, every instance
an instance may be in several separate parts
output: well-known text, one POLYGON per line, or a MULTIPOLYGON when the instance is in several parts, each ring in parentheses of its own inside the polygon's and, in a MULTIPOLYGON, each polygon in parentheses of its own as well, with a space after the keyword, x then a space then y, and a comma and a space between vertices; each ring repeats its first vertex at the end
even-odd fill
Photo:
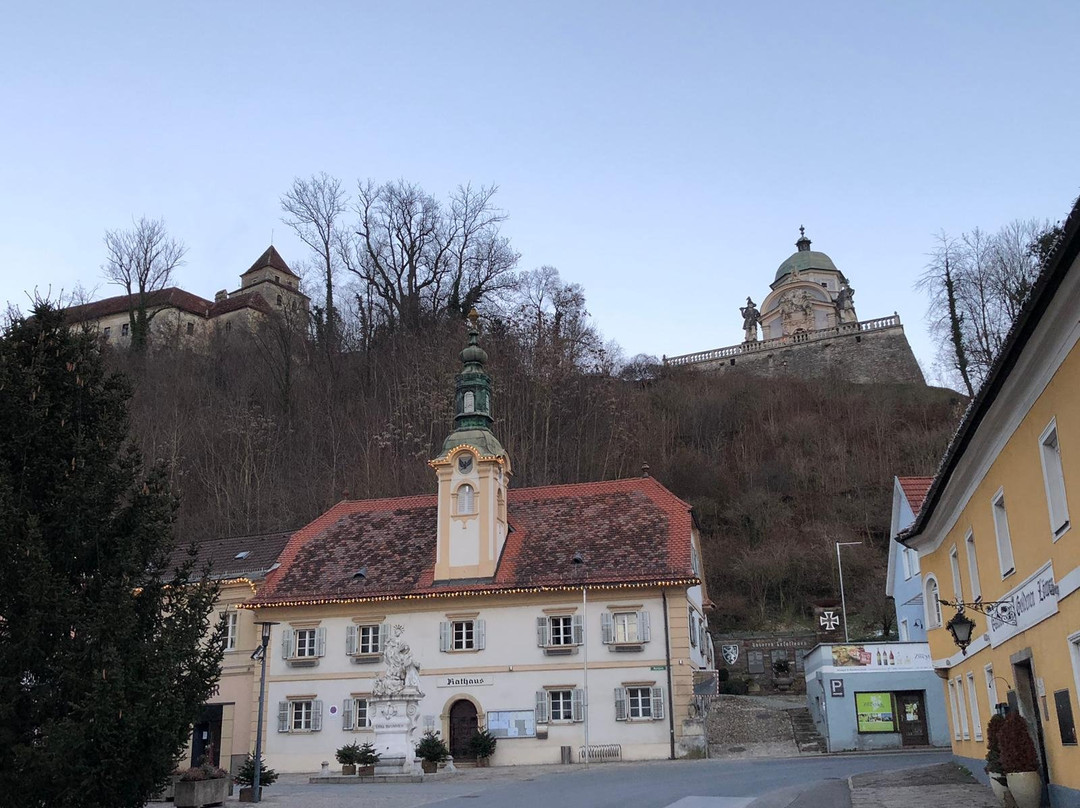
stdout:
POLYGON ((102 279, 163 217, 176 284, 239 286, 294 177, 497 185, 521 269, 584 287, 625 355, 742 339, 805 225, 934 350, 933 234, 1080 193, 1080 3, 85 2, 5 9, 0 301, 102 279), (1074 78, 1069 78, 1074 77, 1074 78))

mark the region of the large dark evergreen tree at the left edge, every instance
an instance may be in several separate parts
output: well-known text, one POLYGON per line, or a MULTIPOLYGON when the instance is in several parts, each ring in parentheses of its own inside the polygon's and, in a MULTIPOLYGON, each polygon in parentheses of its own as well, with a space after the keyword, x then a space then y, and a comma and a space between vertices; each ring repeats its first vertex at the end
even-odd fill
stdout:
POLYGON ((193 555, 170 561, 176 503, 164 470, 127 445, 129 396, 97 339, 48 304, 0 336, 0 794, 11 808, 143 806, 220 673, 217 585, 195 575, 193 555))

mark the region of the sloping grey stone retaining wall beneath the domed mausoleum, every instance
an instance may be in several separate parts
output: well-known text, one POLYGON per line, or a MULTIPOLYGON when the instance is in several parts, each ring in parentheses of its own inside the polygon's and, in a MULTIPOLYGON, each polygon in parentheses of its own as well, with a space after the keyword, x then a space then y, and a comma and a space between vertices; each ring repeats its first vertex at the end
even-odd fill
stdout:
POLYGON ((833 377, 858 385, 926 383, 902 325, 793 342, 772 350, 693 362, 691 366, 698 371, 744 371, 767 377, 833 377))

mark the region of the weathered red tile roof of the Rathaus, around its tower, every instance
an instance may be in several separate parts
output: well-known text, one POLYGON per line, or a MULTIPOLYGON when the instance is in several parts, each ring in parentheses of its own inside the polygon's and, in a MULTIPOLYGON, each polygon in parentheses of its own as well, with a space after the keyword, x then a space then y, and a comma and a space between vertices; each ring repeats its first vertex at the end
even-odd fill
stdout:
POLYGON ((253 605, 691 583, 690 506, 651 477, 511 489, 492 579, 435 581, 436 498, 340 502, 289 540, 253 605), (584 565, 572 565, 576 552, 584 565), (354 577, 366 567, 365 577, 354 577))

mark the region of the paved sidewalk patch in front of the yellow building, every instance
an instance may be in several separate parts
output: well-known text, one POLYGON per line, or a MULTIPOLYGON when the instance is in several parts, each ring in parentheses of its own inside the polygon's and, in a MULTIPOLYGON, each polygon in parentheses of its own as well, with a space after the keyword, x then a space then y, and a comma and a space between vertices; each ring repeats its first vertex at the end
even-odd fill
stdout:
POLYGON ((851 808, 1000 808, 994 793, 953 763, 848 778, 851 808))

